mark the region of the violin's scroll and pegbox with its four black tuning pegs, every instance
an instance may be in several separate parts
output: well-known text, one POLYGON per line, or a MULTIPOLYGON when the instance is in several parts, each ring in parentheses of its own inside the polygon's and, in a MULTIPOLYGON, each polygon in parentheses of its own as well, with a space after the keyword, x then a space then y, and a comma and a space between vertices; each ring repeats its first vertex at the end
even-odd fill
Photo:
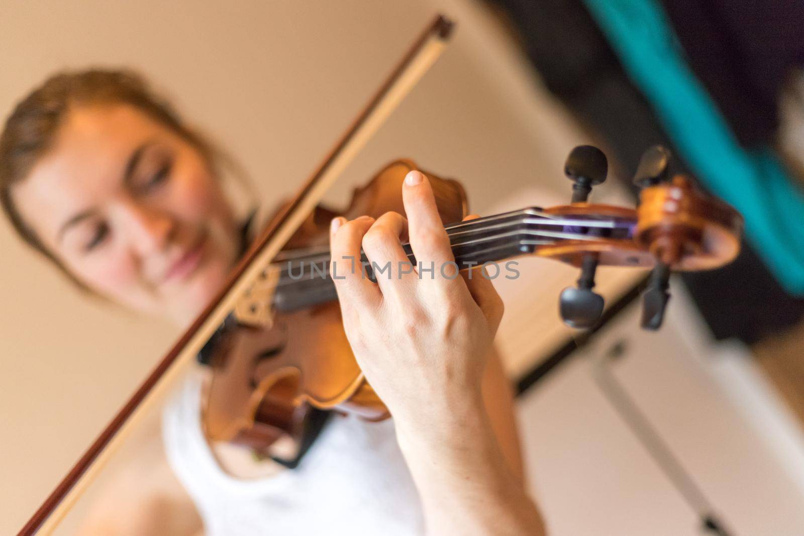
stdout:
POLYGON ((726 203, 698 190, 690 178, 671 178, 671 153, 654 145, 642 155, 634 184, 642 188, 635 211, 587 203, 592 186, 605 180, 605 155, 591 145, 580 145, 567 158, 564 172, 575 184, 572 203, 545 212, 557 218, 586 220, 588 227, 572 227, 573 239, 553 243, 535 252, 580 268, 576 288, 564 288, 559 310, 564 323, 590 328, 603 313, 603 298, 594 293, 598 265, 652 267, 643 295, 642 327, 658 329, 670 294, 672 271, 718 268, 740 252, 743 220, 726 203), (603 231, 602 223, 630 226, 627 237, 603 231))

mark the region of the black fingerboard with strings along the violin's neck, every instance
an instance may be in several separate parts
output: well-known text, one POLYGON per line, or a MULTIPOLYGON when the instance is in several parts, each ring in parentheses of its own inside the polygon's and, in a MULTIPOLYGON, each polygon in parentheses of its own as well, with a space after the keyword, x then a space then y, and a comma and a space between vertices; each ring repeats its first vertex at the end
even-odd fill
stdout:
MULTIPOLYGON (((506 212, 445 226, 457 268, 466 270, 487 263, 496 263, 511 257, 533 253, 536 248, 568 239, 591 239, 596 236, 626 237, 631 227, 614 219, 578 219, 545 214, 538 207, 506 212)), ((366 276, 399 276, 401 270, 416 269, 419 276, 440 276, 453 273, 454 268, 419 265, 409 243, 402 248, 408 256, 409 266, 397 268, 378 266, 367 260, 361 252, 366 276), (432 270, 431 270, 432 268, 432 270), (375 273, 376 272, 376 273, 375 273)), ((351 260, 336 260, 335 275, 351 271, 351 260), (343 268, 342 268, 343 267, 343 268)), ((285 251, 277 256, 272 268, 278 270, 279 279, 273 297, 274 309, 289 312, 338 299, 334 281, 330 277, 329 248, 306 248, 285 251)), ((505 276, 507 267, 489 268, 490 276, 505 276)))

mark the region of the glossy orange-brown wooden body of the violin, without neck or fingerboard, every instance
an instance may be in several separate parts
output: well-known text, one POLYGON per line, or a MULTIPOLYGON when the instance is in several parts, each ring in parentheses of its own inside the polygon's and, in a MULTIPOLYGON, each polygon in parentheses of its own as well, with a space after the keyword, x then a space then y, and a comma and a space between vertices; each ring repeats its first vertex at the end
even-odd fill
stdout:
MULTIPOLYGON (((402 182, 409 171, 417 169, 409 160, 392 162, 366 186, 355 189, 345 210, 316 207, 283 251, 328 245, 330 221, 338 215, 347 219, 360 215, 377 218, 388 211, 404 215, 402 182)), ((462 186, 425 174, 433 186, 442 222, 461 221, 466 216, 462 186)), ((270 315, 269 325, 232 321, 219 331, 215 351, 207 356, 213 369, 203 397, 207 438, 265 453, 283 436, 301 436, 310 406, 347 411, 369 420, 389 416, 351 352, 338 301, 270 315)))

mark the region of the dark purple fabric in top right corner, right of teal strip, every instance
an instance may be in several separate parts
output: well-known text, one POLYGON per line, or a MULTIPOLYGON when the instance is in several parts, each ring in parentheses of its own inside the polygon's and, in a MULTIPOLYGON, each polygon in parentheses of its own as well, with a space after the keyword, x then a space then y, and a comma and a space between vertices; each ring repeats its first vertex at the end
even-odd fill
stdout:
POLYGON ((802 0, 662 0, 687 63, 740 144, 773 141, 777 103, 804 66, 802 0))

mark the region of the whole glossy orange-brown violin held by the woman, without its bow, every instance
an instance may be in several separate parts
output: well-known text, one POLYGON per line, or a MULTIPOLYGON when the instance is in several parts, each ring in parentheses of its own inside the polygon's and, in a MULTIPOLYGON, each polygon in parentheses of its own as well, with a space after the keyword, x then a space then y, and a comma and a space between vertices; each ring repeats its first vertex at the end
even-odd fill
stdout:
MULTIPOLYGON (((461 221, 467 213, 461 185, 422 172, 433 186, 458 268, 522 255, 572 264, 580 268, 580 278, 576 287, 560 293, 559 312, 566 324, 580 329, 593 327, 603 313, 603 298, 593 292, 597 266, 653 268, 643 295, 642 327, 658 329, 671 271, 730 262, 740 250, 742 228, 732 207, 695 189, 690 178, 670 178, 669 159, 661 146, 643 155, 634 178, 642 187, 638 208, 587 203, 592 187, 605 180, 608 164, 600 149, 581 145, 564 169, 573 182, 571 203, 469 221, 461 221)), ((368 420, 389 416, 343 332, 330 276, 329 224, 335 216, 404 215, 402 182, 411 170, 420 169, 410 160, 392 162, 355 190, 345 210, 316 207, 237 301, 199 353, 199 362, 212 370, 203 402, 203 427, 211 441, 243 444, 293 466, 310 443, 311 408, 368 420), (272 454, 281 438, 292 440, 290 460, 272 454)), ((409 244, 402 247, 416 267, 409 244)), ((378 276, 378 267, 365 256, 362 264, 369 278, 378 276)), ((499 272, 497 266, 495 276, 499 272)))

